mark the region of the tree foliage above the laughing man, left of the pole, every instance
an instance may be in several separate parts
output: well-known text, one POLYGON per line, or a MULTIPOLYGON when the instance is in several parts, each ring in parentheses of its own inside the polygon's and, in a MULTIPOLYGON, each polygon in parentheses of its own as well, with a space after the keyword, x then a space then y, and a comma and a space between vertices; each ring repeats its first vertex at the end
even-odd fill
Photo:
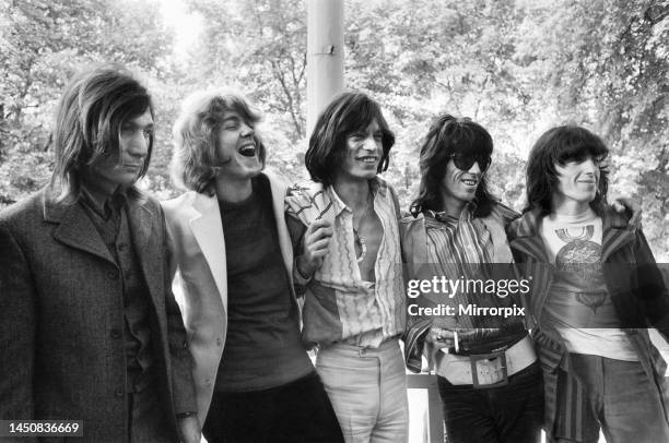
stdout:
POLYGON ((199 84, 248 92, 266 113, 280 117, 284 136, 304 137, 306 2, 190 0, 208 17, 189 64, 199 84))

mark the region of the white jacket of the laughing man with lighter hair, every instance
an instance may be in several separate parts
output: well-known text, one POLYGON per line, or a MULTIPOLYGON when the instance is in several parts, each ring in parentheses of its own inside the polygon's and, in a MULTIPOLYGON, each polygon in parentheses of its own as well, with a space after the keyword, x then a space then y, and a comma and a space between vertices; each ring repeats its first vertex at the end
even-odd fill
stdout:
MULTIPOLYGON (((284 218, 286 184, 272 173, 263 173, 270 181, 281 255, 294 297, 293 248, 284 218)), ((188 332, 198 418, 204 424, 227 331, 227 271, 221 211, 215 195, 195 191, 161 204, 169 236, 173 291, 188 332)))

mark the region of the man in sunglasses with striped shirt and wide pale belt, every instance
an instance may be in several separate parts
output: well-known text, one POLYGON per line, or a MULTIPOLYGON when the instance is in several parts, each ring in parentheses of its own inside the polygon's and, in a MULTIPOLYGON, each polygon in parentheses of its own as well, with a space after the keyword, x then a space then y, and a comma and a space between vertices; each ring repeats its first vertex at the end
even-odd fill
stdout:
POLYGON ((404 354, 412 371, 421 371, 425 355, 437 374, 448 442, 535 443, 541 370, 525 300, 509 290, 516 275, 504 227, 517 214, 488 190, 492 153, 491 135, 467 118, 443 115, 427 132, 419 196, 400 222, 411 297, 404 354), (434 278, 461 286, 418 294, 434 278))

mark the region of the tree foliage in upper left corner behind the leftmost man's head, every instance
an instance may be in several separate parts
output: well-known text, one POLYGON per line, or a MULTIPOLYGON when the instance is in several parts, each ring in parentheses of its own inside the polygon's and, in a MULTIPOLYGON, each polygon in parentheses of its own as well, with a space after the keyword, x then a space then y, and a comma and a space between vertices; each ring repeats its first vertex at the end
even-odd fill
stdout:
POLYGON ((42 185, 51 169, 51 116, 72 73, 115 61, 160 75, 171 37, 152 2, 2 2, 0 203, 7 204, 42 185))

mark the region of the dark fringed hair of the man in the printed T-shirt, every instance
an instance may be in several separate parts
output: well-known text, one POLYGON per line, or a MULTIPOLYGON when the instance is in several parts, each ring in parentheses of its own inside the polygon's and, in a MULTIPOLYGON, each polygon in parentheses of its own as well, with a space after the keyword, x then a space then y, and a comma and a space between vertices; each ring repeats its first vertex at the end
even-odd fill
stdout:
MULTIPOLYGON (((555 165, 578 161, 587 156, 595 161, 603 161, 609 148, 603 141, 585 128, 565 124, 549 129, 532 146, 526 167, 527 205, 523 212, 539 208, 542 215, 551 213, 553 193, 558 191, 558 170, 555 165)), ((607 202, 609 171, 599 166, 599 188, 590 206, 601 213, 607 202)))

